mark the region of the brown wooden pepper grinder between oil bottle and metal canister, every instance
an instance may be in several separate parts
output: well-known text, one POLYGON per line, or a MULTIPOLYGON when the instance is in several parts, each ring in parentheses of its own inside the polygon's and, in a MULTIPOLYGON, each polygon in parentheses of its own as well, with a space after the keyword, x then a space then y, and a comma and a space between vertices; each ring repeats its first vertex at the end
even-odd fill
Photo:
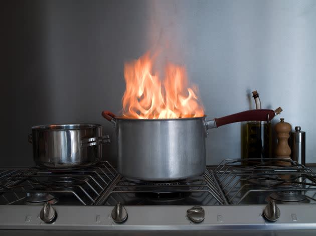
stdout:
MULTIPOLYGON (((284 122, 284 118, 281 118, 280 120, 281 121, 274 127, 277 133, 276 137, 278 139, 275 156, 276 158, 290 158, 291 149, 288 146, 287 140, 292 127, 287 122, 284 122)), ((291 163, 282 161, 277 161, 276 164, 282 166, 291 166, 291 163)))

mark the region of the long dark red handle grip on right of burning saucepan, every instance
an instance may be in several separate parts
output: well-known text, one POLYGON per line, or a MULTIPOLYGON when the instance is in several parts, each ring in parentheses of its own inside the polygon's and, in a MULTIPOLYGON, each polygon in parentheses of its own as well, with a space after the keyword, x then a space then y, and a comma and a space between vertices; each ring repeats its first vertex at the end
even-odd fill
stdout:
POLYGON ((227 115, 220 118, 215 118, 216 127, 224 126, 235 122, 247 122, 247 121, 271 121, 275 113, 270 109, 256 109, 246 110, 239 113, 227 115))

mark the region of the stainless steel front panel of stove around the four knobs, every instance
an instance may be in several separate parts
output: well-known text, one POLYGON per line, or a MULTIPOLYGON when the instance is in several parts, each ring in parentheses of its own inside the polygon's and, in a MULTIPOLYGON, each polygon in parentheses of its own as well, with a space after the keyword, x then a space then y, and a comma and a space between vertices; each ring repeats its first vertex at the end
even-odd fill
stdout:
POLYGON ((0 205, 0 229, 137 230, 139 234, 143 230, 230 230, 230 233, 260 230, 273 235, 281 230, 316 230, 315 204, 281 204, 281 215, 276 222, 269 222, 261 215, 265 207, 262 204, 203 206, 206 214, 201 223, 186 218, 190 207, 193 206, 125 206, 128 220, 115 223, 111 217, 113 206, 56 205, 58 217, 54 223, 47 224, 38 217, 42 206, 0 205))

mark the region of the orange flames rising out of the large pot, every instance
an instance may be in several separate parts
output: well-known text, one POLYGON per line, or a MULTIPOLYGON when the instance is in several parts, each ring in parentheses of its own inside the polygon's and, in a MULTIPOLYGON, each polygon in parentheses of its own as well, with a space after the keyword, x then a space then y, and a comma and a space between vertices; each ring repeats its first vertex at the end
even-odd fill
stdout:
POLYGON ((186 68, 167 64, 165 78, 152 74, 153 59, 149 52, 125 63, 126 90, 123 116, 132 119, 175 119, 201 117, 204 108, 196 95, 198 87, 188 87, 186 68))

